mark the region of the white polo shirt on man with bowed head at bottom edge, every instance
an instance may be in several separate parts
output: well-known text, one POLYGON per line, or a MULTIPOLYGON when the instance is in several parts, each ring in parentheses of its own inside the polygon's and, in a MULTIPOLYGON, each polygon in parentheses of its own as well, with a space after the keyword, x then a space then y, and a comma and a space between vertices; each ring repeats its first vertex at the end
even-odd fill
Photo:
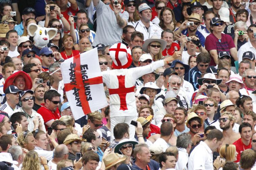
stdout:
POLYGON ((189 157, 189 170, 213 170, 212 151, 209 146, 201 141, 189 157))

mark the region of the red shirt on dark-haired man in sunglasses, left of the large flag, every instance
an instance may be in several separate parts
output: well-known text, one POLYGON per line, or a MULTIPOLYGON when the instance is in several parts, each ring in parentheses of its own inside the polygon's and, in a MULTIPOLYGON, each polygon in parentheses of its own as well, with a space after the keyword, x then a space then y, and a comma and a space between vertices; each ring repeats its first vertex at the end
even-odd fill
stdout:
POLYGON ((45 103, 42 103, 41 105, 42 107, 37 110, 37 113, 39 113, 44 119, 45 128, 47 129, 47 122, 49 122, 50 120, 60 119, 61 116, 58 108, 56 109, 56 111, 53 112, 45 107, 45 103))

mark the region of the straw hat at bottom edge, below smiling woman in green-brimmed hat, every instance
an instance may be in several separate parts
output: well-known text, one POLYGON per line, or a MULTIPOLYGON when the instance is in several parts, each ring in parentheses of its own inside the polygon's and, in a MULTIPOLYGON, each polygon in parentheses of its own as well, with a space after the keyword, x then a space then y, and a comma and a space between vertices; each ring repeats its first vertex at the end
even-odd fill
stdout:
POLYGON ((111 152, 110 154, 108 154, 108 156, 103 158, 106 170, 120 162, 123 162, 124 160, 126 160, 125 156, 113 152, 111 152))

